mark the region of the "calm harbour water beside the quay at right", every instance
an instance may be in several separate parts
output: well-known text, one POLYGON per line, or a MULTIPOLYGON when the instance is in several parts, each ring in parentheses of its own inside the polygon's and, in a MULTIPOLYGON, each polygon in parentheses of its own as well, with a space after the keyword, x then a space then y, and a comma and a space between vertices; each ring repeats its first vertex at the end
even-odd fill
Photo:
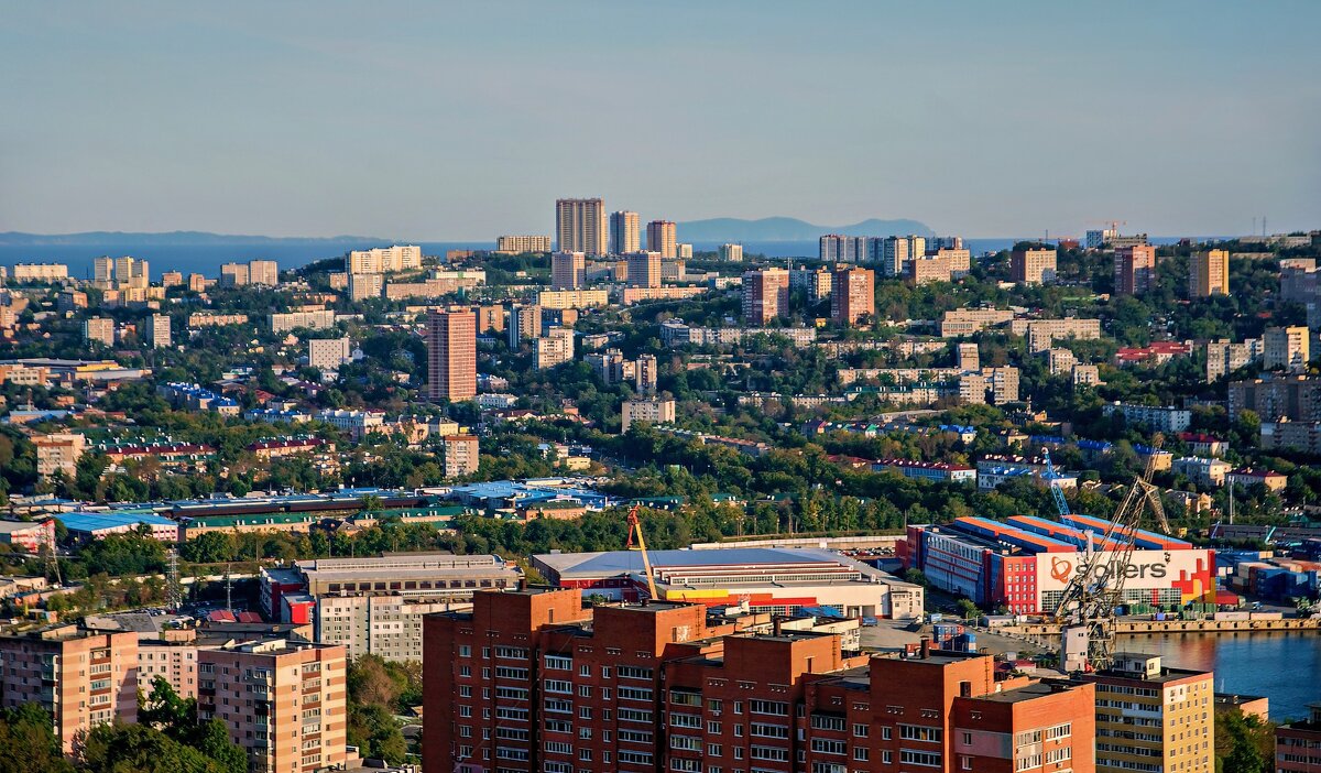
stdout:
POLYGON ((1321 633, 1125 636, 1120 650, 1161 655, 1166 666, 1215 671, 1217 692, 1266 695, 1271 719, 1308 716, 1321 700, 1321 633))

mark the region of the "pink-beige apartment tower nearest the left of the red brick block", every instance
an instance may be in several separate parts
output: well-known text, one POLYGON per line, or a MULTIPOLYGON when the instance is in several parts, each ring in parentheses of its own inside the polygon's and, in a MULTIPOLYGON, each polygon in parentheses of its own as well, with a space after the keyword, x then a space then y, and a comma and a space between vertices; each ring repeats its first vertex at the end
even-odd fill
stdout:
POLYGON ((347 757, 345 649, 267 640, 197 653, 197 718, 218 719, 248 769, 312 773, 347 757))

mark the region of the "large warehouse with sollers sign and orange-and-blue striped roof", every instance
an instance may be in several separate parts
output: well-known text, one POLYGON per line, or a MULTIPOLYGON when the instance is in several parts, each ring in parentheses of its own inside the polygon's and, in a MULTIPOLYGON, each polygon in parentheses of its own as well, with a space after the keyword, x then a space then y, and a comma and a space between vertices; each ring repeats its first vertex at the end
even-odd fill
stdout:
MULTIPOLYGON (((1089 542, 1102 564, 1119 558, 1123 546, 1106 540, 1107 527, 1104 519, 1077 514, 1069 525, 1032 515, 956 518, 945 526, 909 526, 897 548, 904 567, 921 570, 935 588, 1013 614, 1037 614, 1059 604, 1089 542)), ((1214 603, 1215 551, 1152 531, 1136 530, 1131 538, 1127 604, 1170 609, 1214 603)))

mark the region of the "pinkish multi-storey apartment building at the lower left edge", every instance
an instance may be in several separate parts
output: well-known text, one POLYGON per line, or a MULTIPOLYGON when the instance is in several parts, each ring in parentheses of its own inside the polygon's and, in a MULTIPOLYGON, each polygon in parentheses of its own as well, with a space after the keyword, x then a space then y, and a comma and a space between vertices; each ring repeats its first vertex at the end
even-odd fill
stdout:
POLYGON ((77 625, 0 633, 0 707, 50 714, 66 755, 98 724, 137 721, 137 634, 77 625))

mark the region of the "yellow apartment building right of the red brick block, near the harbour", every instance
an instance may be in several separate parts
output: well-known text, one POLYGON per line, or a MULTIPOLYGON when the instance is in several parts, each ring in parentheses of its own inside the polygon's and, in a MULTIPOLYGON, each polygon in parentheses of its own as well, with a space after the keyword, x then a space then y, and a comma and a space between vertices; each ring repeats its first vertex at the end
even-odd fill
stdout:
POLYGON ((1210 671, 1162 667, 1160 655, 1119 653, 1083 674, 1096 687, 1096 766, 1103 770, 1202 772, 1215 768, 1210 671))

